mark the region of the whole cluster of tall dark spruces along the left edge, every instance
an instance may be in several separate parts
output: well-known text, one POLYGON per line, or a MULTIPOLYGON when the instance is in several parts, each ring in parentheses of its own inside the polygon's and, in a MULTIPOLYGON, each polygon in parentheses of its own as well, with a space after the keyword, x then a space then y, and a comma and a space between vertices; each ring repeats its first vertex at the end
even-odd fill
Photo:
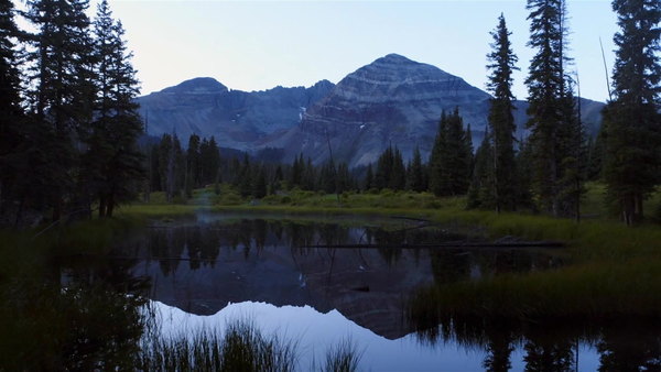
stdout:
POLYGON ((107 0, 0 1, 0 221, 112 216, 143 173, 132 54, 107 0), (96 207, 98 206, 98 207, 96 207))

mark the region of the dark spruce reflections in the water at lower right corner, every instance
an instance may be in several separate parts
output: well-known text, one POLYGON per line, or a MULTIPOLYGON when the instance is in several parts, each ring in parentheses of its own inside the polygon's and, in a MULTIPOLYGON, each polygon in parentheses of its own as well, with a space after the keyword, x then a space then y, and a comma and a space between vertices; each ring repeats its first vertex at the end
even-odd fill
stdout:
MULTIPOLYGON (((620 317, 509 319, 489 316, 448 316, 433 304, 413 300, 410 320, 418 339, 430 346, 459 343, 486 350, 486 371, 509 371, 516 350, 523 353, 523 371, 579 370, 582 347, 599 354, 599 371, 659 371, 659 318, 620 317), (427 304, 427 305, 425 305, 427 304)), ((585 363, 583 363, 585 364, 585 363)), ((596 365, 594 370, 596 370, 596 365)))

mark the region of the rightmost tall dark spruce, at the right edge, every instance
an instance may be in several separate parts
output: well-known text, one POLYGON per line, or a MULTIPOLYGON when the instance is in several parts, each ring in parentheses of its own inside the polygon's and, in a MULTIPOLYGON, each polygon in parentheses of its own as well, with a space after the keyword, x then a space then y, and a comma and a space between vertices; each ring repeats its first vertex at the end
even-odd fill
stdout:
POLYGON ((627 225, 643 218, 643 199, 661 175, 661 2, 615 0, 614 99, 604 110, 604 178, 627 225))

